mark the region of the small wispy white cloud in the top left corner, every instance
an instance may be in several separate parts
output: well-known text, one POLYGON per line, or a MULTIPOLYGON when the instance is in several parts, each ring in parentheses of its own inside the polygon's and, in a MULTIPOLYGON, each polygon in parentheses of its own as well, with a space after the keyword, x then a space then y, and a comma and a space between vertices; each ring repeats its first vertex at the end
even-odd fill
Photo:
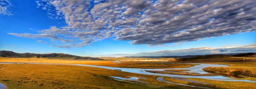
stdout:
POLYGON ((9 0, 0 0, 0 15, 13 15, 12 11, 10 10, 11 7, 12 4, 9 0))

